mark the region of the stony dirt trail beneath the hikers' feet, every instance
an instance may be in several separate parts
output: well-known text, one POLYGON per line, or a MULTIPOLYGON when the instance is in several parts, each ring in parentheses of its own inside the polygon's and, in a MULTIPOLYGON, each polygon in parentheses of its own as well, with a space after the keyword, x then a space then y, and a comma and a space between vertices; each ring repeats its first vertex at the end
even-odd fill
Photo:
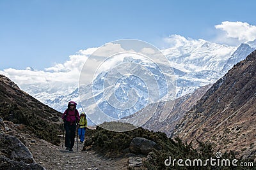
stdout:
POLYGON ((36 162, 46 169, 128 169, 128 158, 106 159, 93 151, 82 152, 83 144, 76 144, 74 152, 55 146, 42 139, 29 139, 26 146, 36 162))

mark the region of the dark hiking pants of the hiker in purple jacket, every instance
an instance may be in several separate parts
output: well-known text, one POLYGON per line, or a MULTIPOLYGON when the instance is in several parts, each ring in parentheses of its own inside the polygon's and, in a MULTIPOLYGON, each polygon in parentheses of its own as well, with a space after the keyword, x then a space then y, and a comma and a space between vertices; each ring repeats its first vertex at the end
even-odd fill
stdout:
POLYGON ((68 148, 73 148, 76 136, 76 123, 70 124, 70 122, 65 122, 64 127, 66 131, 65 146, 68 148))

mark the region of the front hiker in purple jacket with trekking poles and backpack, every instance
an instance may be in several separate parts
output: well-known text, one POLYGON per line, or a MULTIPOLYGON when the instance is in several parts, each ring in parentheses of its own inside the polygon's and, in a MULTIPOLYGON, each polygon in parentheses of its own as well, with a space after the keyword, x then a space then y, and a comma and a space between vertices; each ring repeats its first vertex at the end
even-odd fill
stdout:
POLYGON ((79 113, 76 109, 76 102, 70 101, 68 103, 68 108, 62 115, 64 120, 64 127, 66 131, 65 135, 65 147, 66 150, 73 151, 73 146, 75 144, 76 136, 76 124, 80 120, 79 113))

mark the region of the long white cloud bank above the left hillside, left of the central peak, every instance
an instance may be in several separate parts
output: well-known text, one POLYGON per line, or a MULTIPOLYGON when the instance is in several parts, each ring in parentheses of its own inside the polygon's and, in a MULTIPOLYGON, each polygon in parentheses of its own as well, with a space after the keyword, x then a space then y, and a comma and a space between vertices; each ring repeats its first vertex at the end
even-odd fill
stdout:
POLYGON ((55 64, 44 70, 35 70, 31 67, 26 67, 26 69, 8 68, 0 71, 0 74, 10 78, 23 90, 29 90, 29 85, 38 85, 38 89, 44 89, 44 87, 56 87, 61 83, 67 85, 67 87, 75 87, 78 85, 84 62, 96 49, 79 50, 76 54, 70 55, 69 60, 63 64, 55 64))

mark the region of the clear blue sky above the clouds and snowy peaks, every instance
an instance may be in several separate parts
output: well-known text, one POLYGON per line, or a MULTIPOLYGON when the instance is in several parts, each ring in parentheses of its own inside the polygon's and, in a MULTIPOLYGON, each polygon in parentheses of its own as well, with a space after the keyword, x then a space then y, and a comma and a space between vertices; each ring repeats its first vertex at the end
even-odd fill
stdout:
POLYGON ((125 38, 157 48, 168 47, 163 39, 172 34, 236 45, 237 41, 221 42, 218 32, 236 30, 227 28, 232 22, 249 24, 254 30, 255 5, 254 0, 0 0, 0 70, 45 69, 79 50, 125 38))

